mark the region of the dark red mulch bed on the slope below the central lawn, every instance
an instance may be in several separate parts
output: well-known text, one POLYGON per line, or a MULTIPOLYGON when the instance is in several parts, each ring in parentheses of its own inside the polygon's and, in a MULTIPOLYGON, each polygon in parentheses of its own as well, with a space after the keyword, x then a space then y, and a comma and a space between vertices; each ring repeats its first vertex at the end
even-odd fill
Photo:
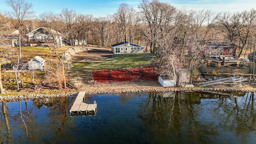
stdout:
POLYGON ((123 68, 117 70, 98 70, 92 72, 95 82, 127 82, 127 81, 157 81, 157 68, 154 66, 145 66, 137 68, 123 68))

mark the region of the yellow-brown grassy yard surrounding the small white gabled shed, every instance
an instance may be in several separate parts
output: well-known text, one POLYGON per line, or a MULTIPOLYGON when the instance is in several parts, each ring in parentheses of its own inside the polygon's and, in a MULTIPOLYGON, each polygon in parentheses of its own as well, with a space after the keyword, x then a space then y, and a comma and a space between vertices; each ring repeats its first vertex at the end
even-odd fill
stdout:
MULTIPOLYGON (((61 56, 65 50, 67 50, 68 46, 64 46, 62 48, 57 49, 57 53, 61 56)), ((4 51, 4 48, 1 48, 2 51, 4 51)), ((5 51, 8 54, 8 61, 2 62, 2 68, 12 68, 12 63, 16 62, 19 55, 18 47, 8 48, 7 51, 5 51), (7 64, 6 64, 7 63, 7 64)), ((22 52, 22 58, 20 59, 20 63, 27 63, 29 60, 34 58, 35 56, 40 56, 45 62, 45 67, 48 68, 48 66, 52 66, 53 64, 56 64, 57 58, 55 57, 55 53, 51 52, 51 50, 48 47, 33 47, 33 46, 27 46, 27 47, 21 47, 22 52), (49 63, 52 62, 52 63, 49 63)), ((0 60, 4 60, 6 58, 2 58, 0 60)), ((40 70, 34 70, 30 72, 20 72, 18 75, 18 80, 22 82, 20 84, 20 88, 22 89, 32 89, 34 84, 40 84, 45 79, 45 72, 42 72, 40 70), (33 73, 34 73, 34 81, 33 81, 33 73)), ((6 90, 16 90, 17 89, 17 83, 15 81, 15 74, 14 72, 4 72, 2 71, 2 84, 4 89, 6 90), (9 81, 12 79, 12 81, 9 81)))

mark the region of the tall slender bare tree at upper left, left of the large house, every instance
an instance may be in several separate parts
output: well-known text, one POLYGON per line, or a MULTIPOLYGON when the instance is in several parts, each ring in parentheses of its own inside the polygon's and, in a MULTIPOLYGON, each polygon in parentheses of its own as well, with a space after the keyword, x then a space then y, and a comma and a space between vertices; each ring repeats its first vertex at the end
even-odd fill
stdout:
POLYGON ((32 3, 25 2, 25 0, 6 0, 5 1, 8 6, 11 7, 12 11, 10 15, 12 18, 16 18, 17 23, 12 20, 12 24, 14 27, 19 30, 19 57, 22 57, 21 54, 21 34, 22 34, 22 23, 23 20, 30 18, 34 13, 32 9, 32 3))

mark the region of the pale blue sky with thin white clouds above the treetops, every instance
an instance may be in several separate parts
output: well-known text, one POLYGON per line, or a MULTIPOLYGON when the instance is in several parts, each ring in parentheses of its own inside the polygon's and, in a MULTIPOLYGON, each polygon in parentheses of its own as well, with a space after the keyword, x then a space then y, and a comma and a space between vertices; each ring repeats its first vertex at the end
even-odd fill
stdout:
MULTIPOLYGON (((63 8, 75 10, 79 14, 92 14, 94 17, 112 15, 119 4, 125 2, 137 9, 141 0, 24 0, 33 4, 35 16, 44 12, 60 13, 63 8)), ((151 1, 151 0, 149 0, 151 1)), ((188 10, 214 10, 215 12, 242 12, 243 10, 256 9, 256 0, 158 0, 167 2, 176 8, 188 10)), ((0 0, 0 11, 10 8, 5 0, 0 0)))

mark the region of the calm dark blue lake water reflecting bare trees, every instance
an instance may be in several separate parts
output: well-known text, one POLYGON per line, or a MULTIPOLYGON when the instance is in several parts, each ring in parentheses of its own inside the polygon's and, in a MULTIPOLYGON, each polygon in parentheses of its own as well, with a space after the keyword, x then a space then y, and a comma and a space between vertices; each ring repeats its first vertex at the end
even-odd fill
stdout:
POLYGON ((95 116, 75 97, 0 102, 0 143, 255 144, 256 96, 207 92, 102 94, 95 116))

